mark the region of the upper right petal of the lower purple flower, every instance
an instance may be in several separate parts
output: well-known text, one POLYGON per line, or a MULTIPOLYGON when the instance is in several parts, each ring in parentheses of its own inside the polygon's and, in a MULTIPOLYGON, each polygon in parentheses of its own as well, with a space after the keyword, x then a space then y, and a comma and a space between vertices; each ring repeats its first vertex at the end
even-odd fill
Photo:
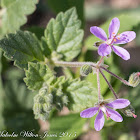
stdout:
POLYGON ((114 108, 114 109, 121 109, 125 108, 130 104, 129 100, 127 99, 117 99, 111 103, 106 104, 107 106, 114 108))

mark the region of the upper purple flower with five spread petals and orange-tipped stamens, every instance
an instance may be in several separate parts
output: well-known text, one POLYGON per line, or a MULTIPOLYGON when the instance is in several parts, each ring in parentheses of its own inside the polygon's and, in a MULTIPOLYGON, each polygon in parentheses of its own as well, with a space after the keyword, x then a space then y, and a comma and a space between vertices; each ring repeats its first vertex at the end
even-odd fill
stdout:
POLYGON ((93 26, 90 28, 90 32, 96 37, 100 38, 104 42, 98 48, 98 54, 100 56, 107 56, 113 51, 124 60, 130 59, 130 54, 127 50, 122 47, 115 46, 114 44, 125 44, 132 41, 136 37, 136 33, 133 31, 126 31, 119 35, 117 32, 120 28, 120 21, 118 18, 113 18, 109 25, 109 38, 103 29, 93 26))

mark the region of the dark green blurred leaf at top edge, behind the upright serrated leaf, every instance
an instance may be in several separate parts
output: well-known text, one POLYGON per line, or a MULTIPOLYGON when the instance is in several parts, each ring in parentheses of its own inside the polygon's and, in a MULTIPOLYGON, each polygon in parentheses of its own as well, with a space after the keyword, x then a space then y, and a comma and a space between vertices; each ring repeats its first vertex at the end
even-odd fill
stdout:
POLYGON ((82 21, 84 27, 84 0, 47 0, 48 5, 55 13, 65 12, 71 7, 76 7, 78 17, 82 21))

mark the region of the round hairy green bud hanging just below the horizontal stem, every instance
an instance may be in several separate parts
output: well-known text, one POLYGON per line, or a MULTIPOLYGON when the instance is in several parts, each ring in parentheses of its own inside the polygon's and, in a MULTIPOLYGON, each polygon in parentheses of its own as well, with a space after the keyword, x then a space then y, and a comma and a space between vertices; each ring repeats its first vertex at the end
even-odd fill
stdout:
POLYGON ((87 76, 88 74, 92 73, 92 67, 90 65, 83 65, 80 69, 80 74, 82 76, 87 76))

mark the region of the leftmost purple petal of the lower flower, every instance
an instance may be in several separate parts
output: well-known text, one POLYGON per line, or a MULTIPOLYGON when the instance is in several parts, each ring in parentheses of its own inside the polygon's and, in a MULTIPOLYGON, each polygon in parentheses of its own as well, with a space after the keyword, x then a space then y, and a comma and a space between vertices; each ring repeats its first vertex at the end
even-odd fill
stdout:
POLYGON ((98 109, 99 109, 99 107, 88 108, 88 109, 82 111, 80 113, 80 116, 82 118, 91 118, 92 116, 94 116, 97 113, 98 109))

